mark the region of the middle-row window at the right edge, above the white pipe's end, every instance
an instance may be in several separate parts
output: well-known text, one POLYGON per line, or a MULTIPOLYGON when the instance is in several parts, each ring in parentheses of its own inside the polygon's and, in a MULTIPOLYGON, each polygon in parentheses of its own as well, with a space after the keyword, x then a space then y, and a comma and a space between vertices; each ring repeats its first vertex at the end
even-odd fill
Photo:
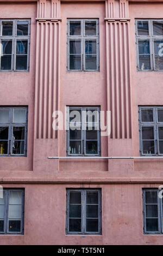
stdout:
POLYGON ((140 153, 144 156, 163 154, 163 107, 139 107, 140 153))

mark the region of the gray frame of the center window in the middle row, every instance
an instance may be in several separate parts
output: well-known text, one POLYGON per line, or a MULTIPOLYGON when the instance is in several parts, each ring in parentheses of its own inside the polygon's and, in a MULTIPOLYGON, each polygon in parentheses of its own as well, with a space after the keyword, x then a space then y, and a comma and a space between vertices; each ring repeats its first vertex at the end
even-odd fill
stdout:
MULTIPOLYGON (((67 130, 66 130, 66 156, 72 156, 72 157, 89 157, 89 156, 101 156, 101 129, 100 129, 100 107, 99 106, 67 106, 66 107, 67 110, 67 130), (86 130, 82 129, 82 138, 81 138, 81 153, 80 154, 70 154, 69 153, 69 146, 70 146, 70 129, 69 129, 69 122, 70 122, 70 118, 69 118, 69 112, 70 110, 80 110, 81 113, 83 113, 82 111, 98 111, 99 114, 99 129, 97 130, 97 146, 98 146, 98 153, 97 154, 86 154, 86 130)), ((79 124, 81 125, 81 127, 83 127, 83 123, 86 125, 86 122, 84 119, 84 116, 82 114, 82 122, 79 124)), ((74 140, 73 140, 74 141, 74 140)), ((91 140, 93 141, 93 140, 91 140)))

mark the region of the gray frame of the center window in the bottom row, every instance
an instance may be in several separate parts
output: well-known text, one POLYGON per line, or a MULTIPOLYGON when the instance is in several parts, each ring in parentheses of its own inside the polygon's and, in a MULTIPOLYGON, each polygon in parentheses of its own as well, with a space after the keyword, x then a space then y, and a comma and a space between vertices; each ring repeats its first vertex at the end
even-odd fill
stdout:
POLYGON ((66 234, 67 235, 102 235, 102 190, 99 189, 66 189, 66 234), (86 231, 86 192, 98 192, 98 232, 87 232, 86 231), (81 222, 81 232, 69 231, 69 201, 70 192, 80 192, 81 193, 81 205, 82 205, 82 222, 81 222))

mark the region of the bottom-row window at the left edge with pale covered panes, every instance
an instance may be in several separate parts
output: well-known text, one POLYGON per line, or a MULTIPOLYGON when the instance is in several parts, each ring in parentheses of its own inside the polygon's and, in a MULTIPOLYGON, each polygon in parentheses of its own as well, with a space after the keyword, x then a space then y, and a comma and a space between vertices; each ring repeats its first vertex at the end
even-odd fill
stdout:
POLYGON ((0 198, 0 234, 23 234, 24 190, 3 189, 0 198))

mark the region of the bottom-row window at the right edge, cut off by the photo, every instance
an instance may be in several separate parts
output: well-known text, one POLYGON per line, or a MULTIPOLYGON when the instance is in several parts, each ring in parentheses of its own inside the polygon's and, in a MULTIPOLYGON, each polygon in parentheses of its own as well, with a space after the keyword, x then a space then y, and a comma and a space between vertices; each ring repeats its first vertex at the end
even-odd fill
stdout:
POLYGON ((159 193, 159 189, 143 189, 144 233, 163 233, 163 202, 159 193))

